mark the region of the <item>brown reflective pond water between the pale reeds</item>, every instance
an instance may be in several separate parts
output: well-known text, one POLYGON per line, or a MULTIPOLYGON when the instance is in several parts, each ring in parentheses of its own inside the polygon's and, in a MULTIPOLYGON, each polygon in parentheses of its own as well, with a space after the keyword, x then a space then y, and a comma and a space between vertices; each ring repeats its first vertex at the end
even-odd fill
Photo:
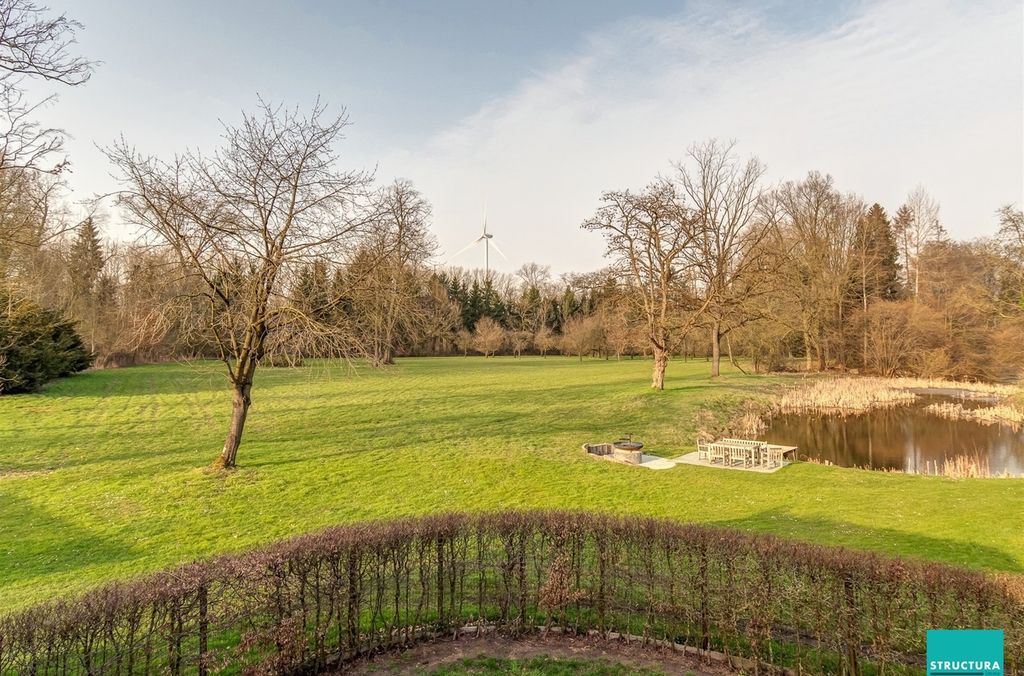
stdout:
POLYGON ((841 467, 899 469, 927 473, 946 458, 969 456, 988 461, 993 474, 1024 476, 1024 430, 970 420, 947 420, 925 411, 929 404, 956 400, 935 392, 911 404, 857 415, 785 414, 775 417, 764 434, 771 443, 796 446, 801 459, 841 467))

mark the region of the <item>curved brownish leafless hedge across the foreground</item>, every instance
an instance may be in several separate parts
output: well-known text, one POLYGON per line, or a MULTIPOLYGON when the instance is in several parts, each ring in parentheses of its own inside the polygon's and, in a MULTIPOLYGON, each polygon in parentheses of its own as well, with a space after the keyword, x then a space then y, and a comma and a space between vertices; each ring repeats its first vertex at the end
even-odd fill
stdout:
POLYGON ((313 672, 473 625, 620 632, 808 673, 914 672, 929 628, 1006 630, 995 577, 665 520, 575 512, 369 522, 0 620, 0 674, 313 672))

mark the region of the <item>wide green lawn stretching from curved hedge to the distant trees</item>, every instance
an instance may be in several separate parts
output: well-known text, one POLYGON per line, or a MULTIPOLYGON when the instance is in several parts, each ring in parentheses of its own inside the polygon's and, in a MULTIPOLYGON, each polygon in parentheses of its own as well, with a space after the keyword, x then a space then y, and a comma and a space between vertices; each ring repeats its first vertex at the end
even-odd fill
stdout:
POLYGON ((1024 569, 1024 482, 798 464, 771 475, 593 460, 634 433, 692 450, 778 379, 674 362, 401 360, 257 374, 230 473, 213 364, 83 374, 0 397, 0 611, 323 526, 444 510, 564 507, 667 516, 999 571, 1024 569))

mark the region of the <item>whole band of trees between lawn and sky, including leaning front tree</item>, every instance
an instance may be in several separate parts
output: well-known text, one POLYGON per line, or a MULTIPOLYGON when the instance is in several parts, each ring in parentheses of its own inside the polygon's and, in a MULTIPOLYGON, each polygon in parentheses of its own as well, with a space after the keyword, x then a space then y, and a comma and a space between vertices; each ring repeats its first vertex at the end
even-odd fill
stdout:
POLYGON ((759 159, 718 140, 641 189, 595 196, 582 225, 607 245, 602 269, 481 273, 434 263, 430 204, 412 182, 343 168, 343 110, 260 100, 212 153, 106 146, 117 213, 140 238, 104 241, 108 215, 69 206, 67 159, 50 164, 61 132, 10 104, 26 78, 88 80, 93 65, 69 52, 80 27, 2 4, 15 131, 0 156, 0 391, 93 360, 216 358, 232 392, 218 461, 230 467, 257 369, 311 356, 646 355, 655 388, 678 355, 707 356, 713 377, 740 355, 759 371, 985 379, 1024 363, 1019 209, 999 211, 996 237, 956 242, 922 187, 890 216, 820 172, 769 184, 759 159))

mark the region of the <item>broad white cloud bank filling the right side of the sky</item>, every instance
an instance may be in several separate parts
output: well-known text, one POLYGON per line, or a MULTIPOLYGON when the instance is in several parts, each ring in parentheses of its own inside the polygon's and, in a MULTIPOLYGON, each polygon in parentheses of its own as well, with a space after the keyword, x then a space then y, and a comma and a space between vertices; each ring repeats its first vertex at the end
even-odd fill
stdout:
POLYGON ((739 140, 773 180, 820 169, 890 210, 923 183, 953 236, 987 235, 999 205, 1022 201, 1021 26, 1009 0, 873 2, 816 35, 714 8, 624 22, 386 154, 379 175, 416 181, 447 252, 486 199, 507 269, 599 266, 602 244, 579 224, 601 191, 642 185, 711 136, 739 140))

